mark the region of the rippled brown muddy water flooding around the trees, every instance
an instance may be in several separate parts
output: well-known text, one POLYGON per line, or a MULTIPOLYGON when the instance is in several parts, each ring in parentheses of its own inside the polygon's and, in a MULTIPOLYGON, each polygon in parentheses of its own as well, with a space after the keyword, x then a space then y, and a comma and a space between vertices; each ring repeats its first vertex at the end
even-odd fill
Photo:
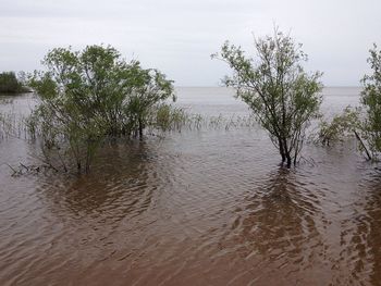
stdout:
MULTIPOLYGON (((324 89, 323 111, 358 92, 324 89)), ((222 88, 177 95, 195 112, 248 113, 222 88)), ((33 153, 0 142, 0 163, 33 153)), ((381 285, 381 171, 351 140, 304 157, 280 169, 263 132, 236 127, 108 148, 77 178, 2 164, 0 285, 381 285)))

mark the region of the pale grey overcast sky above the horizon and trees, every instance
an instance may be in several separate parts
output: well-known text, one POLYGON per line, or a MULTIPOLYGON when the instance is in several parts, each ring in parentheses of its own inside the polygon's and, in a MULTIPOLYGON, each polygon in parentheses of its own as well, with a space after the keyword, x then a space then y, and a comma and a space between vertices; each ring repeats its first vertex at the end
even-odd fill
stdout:
POLYGON ((380 0, 0 0, 0 71, 33 71, 53 47, 110 43, 176 86, 217 86, 211 60, 224 40, 253 50, 253 34, 290 32, 328 86, 357 86, 373 42, 380 0))

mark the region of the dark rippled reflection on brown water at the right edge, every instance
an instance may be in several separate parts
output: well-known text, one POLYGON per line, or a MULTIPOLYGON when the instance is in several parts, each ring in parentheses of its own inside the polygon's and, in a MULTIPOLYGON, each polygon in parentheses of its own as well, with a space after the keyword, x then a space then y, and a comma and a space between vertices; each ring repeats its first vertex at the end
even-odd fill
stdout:
POLYGON ((349 266, 353 281, 364 278, 370 285, 381 282, 381 173, 369 174, 361 183, 361 197, 353 206, 353 215, 342 221, 341 241, 347 247, 341 260, 349 266))

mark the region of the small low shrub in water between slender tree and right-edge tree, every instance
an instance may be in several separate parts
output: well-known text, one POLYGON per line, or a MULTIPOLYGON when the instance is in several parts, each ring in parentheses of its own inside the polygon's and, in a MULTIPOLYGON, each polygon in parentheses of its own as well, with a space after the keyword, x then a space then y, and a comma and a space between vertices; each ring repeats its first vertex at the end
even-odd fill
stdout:
POLYGON ((335 115, 331 122, 322 120, 319 124, 319 141, 322 145, 330 146, 331 142, 342 140, 354 130, 361 129, 360 109, 347 107, 342 114, 335 115))

